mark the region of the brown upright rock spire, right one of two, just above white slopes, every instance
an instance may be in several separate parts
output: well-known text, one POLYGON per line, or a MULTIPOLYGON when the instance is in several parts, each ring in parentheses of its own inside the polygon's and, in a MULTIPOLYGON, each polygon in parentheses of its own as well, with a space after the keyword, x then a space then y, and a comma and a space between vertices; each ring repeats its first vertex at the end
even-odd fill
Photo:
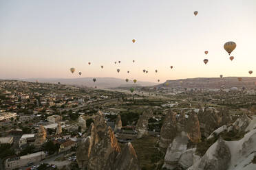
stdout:
POLYGON ((185 131, 187 136, 193 143, 199 143, 201 141, 200 123, 198 121, 198 114, 194 111, 189 115, 189 119, 186 121, 185 131))

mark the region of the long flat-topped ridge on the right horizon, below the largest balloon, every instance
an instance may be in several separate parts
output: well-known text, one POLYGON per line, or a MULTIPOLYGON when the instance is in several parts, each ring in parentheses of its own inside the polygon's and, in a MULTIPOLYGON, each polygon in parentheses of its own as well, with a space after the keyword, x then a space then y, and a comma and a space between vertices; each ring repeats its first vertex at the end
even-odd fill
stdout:
POLYGON ((220 86, 225 86, 225 88, 231 87, 243 87, 246 88, 256 88, 256 77, 242 77, 242 81, 239 82, 237 77, 223 77, 223 78, 191 78, 191 79, 179 79, 179 80, 167 80, 164 84, 158 86, 168 86, 171 88, 179 87, 182 88, 220 88, 220 86))

